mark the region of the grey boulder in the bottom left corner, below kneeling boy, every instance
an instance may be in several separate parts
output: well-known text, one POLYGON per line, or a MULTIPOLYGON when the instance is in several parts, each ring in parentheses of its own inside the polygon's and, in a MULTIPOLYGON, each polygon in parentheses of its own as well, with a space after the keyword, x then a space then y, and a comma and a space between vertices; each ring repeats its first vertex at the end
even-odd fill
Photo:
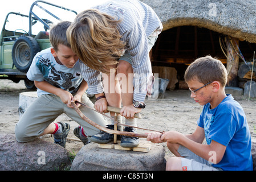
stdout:
POLYGON ((71 164, 65 148, 36 139, 19 143, 14 134, 0 134, 0 171, 53 171, 71 164))

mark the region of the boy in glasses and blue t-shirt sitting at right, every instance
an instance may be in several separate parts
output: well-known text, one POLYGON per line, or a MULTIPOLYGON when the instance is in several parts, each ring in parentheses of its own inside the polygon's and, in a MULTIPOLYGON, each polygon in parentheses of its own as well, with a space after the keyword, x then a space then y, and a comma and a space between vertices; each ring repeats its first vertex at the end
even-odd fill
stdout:
POLYGON ((185 81, 194 101, 204 105, 193 134, 177 131, 151 133, 153 143, 167 142, 176 157, 166 170, 253 170, 251 136, 245 113, 225 93, 227 72, 220 60, 201 57, 185 72, 185 81), (206 139, 206 144, 202 142, 206 139))

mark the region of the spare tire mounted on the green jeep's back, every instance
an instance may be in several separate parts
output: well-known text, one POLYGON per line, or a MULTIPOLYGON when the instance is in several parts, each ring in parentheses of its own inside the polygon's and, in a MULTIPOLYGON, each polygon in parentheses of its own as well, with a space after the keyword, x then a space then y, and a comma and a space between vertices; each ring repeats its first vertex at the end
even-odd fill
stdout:
POLYGON ((40 52, 39 44, 30 36, 20 36, 13 44, 11 57, 13 64, 21 72, 29 71, 36 53, 40 52))

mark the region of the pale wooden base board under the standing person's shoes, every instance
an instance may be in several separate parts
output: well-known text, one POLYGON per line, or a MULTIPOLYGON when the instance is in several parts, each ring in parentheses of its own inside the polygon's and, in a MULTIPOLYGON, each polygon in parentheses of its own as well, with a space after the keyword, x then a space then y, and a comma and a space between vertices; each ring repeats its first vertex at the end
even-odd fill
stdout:
POLYGON ((116 144, 114 144, 113 142, 109 142, 106 144, 99 144, 99 148, 108 148, 108 149, 115 148, 116 150, 133 150, 137 152, 149 152, 151 148, 151 143, 143 140, 140 141, 140 144, 137 147, 129 147, 129 148, 121 147, 120 143, 121 141, 117 141, 116 144))

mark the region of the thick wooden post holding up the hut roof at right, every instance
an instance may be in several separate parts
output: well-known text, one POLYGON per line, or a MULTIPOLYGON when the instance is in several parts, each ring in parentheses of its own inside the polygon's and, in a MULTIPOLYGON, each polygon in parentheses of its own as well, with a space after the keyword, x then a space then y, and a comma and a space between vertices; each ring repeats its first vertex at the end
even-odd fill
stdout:
POLYGON ((230 38, 230 42, 227 44, 227 86, 238 86, 239 57, 236 52, 239 50, 237 46, 239 46, 239 39, 230 38))

